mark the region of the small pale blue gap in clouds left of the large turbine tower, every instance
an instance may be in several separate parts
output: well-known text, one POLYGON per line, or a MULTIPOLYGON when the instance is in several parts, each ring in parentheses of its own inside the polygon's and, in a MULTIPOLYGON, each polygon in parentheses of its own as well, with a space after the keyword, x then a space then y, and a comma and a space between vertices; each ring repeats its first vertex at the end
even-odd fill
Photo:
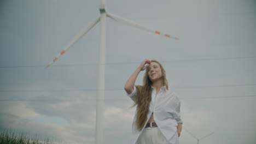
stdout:
POLYGON ((67 123, 67 121, 61 117, 51 117, 51 116, 36 116, 36 117, 31 117, 30 118, 34 122, 38 123, 51 123, 51 124, 57 124, 57 125, 62 125, 67 123))

